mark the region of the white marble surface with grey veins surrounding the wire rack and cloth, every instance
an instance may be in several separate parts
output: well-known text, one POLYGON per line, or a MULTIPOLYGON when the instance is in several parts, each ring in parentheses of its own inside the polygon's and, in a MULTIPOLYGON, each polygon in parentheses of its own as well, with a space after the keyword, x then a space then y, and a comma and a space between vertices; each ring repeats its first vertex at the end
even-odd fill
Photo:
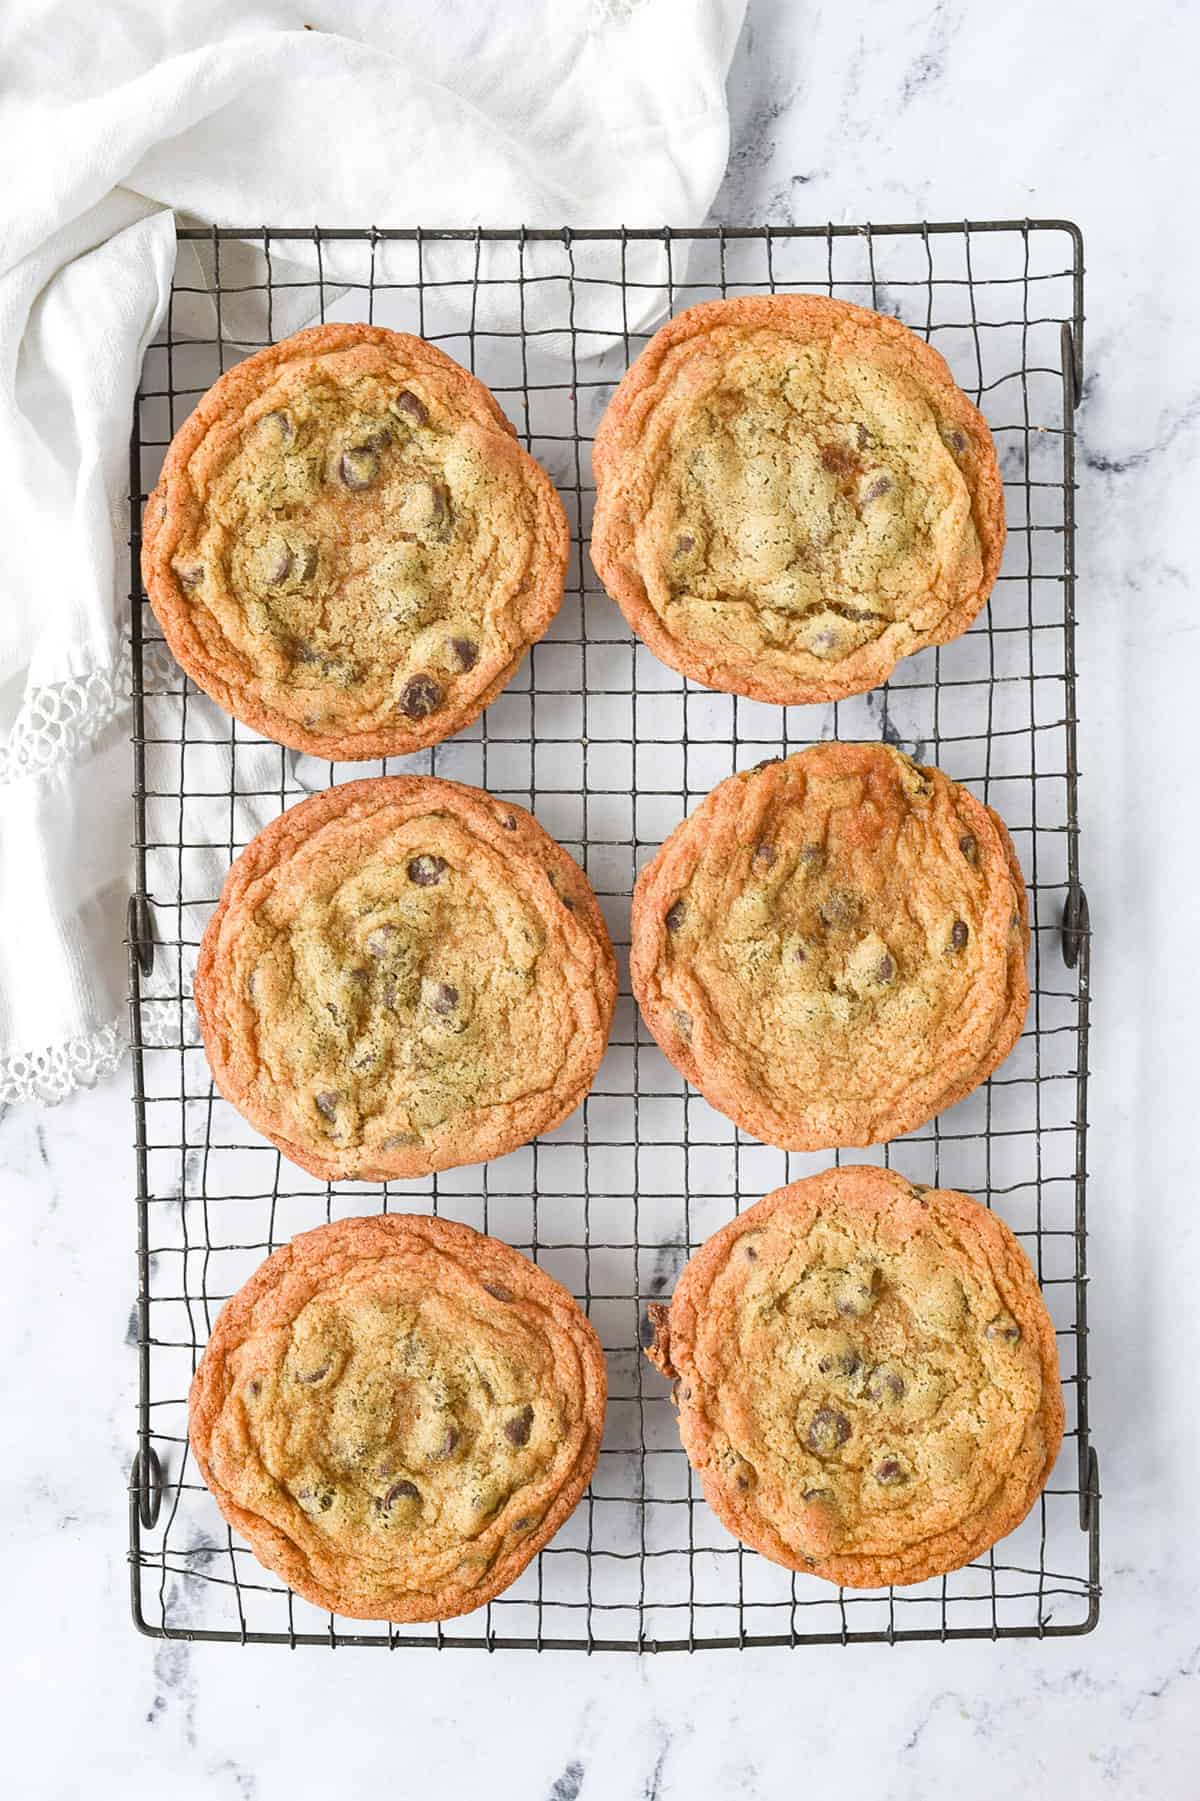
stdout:
MULTIPOLYGON (((310 18, 321 22, 321 7, 310 18)), ((1088 1639, 694 1659, 153 1644, 126 1615, 128 1079, 0 1117, 5 1787, 607 1801, 1198 1792, 1195 7, 751 0, 726 222, 1076 218, 1092 900, 1088 1639)))

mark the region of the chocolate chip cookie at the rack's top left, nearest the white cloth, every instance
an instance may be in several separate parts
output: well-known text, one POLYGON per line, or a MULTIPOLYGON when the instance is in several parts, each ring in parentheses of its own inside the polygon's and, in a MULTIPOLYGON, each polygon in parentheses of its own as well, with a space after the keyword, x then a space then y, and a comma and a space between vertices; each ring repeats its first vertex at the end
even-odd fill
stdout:
POLYGON ((146 502, 142 576, 191 679, 279 744, 398 756, 470 724, 562 600, 569 533, 492 394, 380 326, 216 382, 146 502))

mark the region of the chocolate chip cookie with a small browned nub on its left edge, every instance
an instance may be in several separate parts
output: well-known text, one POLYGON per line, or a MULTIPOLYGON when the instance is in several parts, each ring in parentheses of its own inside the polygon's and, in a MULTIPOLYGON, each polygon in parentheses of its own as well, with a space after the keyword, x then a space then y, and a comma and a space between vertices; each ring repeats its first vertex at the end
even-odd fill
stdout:
POLYGON ((650 1324, 710 1507, 771 1561, 849 1588, 980 1556, 1063 1437, 1054 1326, 1020 1244, 978 1201, 894 1171, 768 1194, 650 1324))

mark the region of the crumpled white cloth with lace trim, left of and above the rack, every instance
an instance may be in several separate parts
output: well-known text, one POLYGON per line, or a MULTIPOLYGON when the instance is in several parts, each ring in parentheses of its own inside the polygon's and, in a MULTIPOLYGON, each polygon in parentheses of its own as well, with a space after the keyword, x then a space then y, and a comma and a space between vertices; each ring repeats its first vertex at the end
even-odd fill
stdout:
MULTIPOLYGON (((128 432, 171 285, 173 213, 222 225, 699 223, 724 171, 742 11, 4 7, 0 1102, 59 1100, 123 1052, 128 432)), ((339 276, 328 258, 326 276, 339 276)), ((225 330, 261 335, 256 304, 225 330)), ((303 324, 305 306, 276 312, 276 335, 303 324)))

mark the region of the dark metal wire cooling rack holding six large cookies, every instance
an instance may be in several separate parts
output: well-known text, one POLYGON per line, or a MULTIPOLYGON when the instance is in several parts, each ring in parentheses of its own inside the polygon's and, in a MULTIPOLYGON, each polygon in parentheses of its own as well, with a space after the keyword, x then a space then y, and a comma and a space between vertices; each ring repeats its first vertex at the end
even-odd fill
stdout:
POLYGON ((1065 222, 811 229, 384 232, 180 231, 132 441, 137 891, 130 902, 141 1390, 130 1480, 133 1617, 159 1637, 276 1644, 697 1650, 1034 1637, 1099 1612, 1099 1480, 1088 1444, 1085 1133, 1088 915, 1076 818, 1074 423, 1083 249, 1065 222), (1009 540, 959 641, 838 706, 708 693, 663 668, 598 593, 584 553, 591 436, 667 310, 811 290, 897 313, 989 418, 1009 540), (141 510, 166 443, 216 375, 308 319, 418 331, 474 369, 555 477, 573 528, 566 600, 481 720, 387 764, 315 764, 234 724, 182 677, 139 576, 141 510), (667 1383, 638 1351, 645 1304, 737 1208, 827 1167, 755 1144, 638 1023, 623 969, 591 1097, 490 1165, 413 1183, 303 1174, 214 1093, 191 1001, 200 931, 232 855, 305 792, 436 771, 521 801, 586 866, 622 964, 632 879, 735 769, 818 738, 886 738, 1007 819, 1031 895, 1025 1034, 930 1126, 847 1160, 966 1189, 1020 1235, 1058 1327, 1067 1439, 1029 1520, 969 1569, 838 1590, 744 1551, 710 1515, 667 1383), (580 1299, 611 1401, 591 1491, 497 1601, 404 1630, 321 1614, 227 1529, 187 1453, 186 1394, 222 1300, 324 1219, 438 1212, 492 1232, 580 1299))

